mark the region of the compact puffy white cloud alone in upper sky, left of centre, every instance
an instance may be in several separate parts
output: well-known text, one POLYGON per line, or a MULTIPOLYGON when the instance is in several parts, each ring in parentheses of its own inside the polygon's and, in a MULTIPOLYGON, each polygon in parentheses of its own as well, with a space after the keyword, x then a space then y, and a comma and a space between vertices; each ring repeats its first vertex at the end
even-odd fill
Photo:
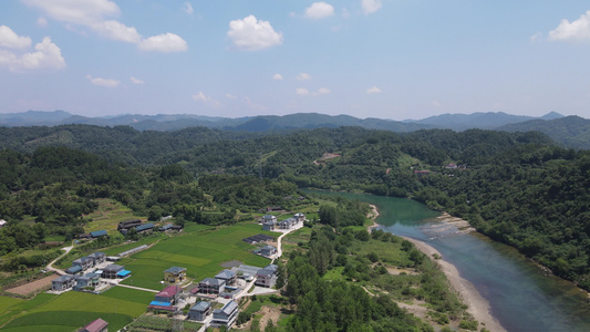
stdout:
POLYGON ((240 50, 257 51, 282 44, 282 33, 276 32, 268 21, 249 15, 229 22, 227 35, 240 50))

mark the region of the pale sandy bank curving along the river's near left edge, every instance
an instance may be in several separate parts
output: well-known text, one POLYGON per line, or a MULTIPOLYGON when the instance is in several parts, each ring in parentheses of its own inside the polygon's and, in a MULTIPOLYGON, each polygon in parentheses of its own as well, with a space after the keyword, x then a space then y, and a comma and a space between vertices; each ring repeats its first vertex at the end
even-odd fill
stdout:
MULTIPOLYGON (((438 250, 423 241, 407 237, 403 238, 414 243, 420 251, 426 253, 431 258, 433 258, 433 255, 442 257, 438 250)), ((489 312, 489 302, 482 297, 473 283, 459 276, 459 271, 454 264, 444 259, 436 259, 435 261, 441 267, 441 270, 445 273, 448 281, 451 281, 453 288, 459 293, 463 302, 468 307, 467 312, 469 312, 476 321, 482 323, 489 331, 506 331, 498 320, 496 320, 489 312)))

